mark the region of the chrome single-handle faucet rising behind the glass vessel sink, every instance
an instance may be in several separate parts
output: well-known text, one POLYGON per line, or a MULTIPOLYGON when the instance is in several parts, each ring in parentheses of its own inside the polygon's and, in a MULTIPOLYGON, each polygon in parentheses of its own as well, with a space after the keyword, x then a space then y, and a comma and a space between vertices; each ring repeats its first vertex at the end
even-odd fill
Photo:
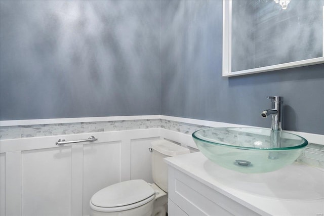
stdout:
POLYGON ((272 115, 271 129, 274 131, 282 130, 282 103, 284 102, 283 97, 269 96, 271 99, 271 109, 264 110, 261 112, 261 116, 266 118, 268 115, 272 115))

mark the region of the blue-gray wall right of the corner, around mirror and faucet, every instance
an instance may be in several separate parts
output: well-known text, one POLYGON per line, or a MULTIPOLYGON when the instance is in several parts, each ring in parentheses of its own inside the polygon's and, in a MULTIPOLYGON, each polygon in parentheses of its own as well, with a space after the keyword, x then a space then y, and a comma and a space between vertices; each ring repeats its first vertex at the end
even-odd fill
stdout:
POLYGON ((161 114, 270 127, 267 96, 284 97, 284 128, 324 134, 324 65, 222 77, 222 2, 163 2, 161 114))

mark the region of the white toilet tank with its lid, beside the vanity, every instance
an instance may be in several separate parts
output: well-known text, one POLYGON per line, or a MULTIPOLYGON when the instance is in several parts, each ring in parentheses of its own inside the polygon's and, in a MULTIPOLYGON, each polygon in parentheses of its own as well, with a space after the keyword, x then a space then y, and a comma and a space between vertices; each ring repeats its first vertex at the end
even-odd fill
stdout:
POLYGON ((165 157, 190 153, 184 148, 167 140, 157 140, 151 143, 152 148, 152 177, 154 183, 168 192, 168 165, 163 161, 165 157))

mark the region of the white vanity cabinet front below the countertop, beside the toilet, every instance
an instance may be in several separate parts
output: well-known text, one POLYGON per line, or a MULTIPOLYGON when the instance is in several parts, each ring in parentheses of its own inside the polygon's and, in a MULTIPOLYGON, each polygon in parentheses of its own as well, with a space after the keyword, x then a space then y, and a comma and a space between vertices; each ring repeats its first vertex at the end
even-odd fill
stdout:
POLYGON ((169 215, 260 215, 169 166, 169 215))

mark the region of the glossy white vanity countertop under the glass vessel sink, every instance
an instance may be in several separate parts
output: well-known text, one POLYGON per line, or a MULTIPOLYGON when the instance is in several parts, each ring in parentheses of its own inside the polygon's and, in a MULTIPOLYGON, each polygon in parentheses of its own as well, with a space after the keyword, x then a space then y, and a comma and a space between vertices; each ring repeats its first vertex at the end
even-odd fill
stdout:
POLYGON ((324 170, 293 163, 264 174, 225 169, 202 153, 165 158, 172 167, 259 214, 323 215, 324 170))

